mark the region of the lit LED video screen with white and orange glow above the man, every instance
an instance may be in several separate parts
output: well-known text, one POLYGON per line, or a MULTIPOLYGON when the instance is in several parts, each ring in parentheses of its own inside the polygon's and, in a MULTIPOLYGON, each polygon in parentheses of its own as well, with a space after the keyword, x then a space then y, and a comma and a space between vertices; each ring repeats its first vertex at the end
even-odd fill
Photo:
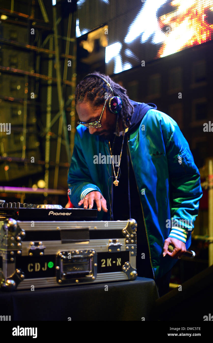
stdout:
POLYGON ((112 75, 212 40, 213 0, 79 0, 76 37, 101 24, 112 75))

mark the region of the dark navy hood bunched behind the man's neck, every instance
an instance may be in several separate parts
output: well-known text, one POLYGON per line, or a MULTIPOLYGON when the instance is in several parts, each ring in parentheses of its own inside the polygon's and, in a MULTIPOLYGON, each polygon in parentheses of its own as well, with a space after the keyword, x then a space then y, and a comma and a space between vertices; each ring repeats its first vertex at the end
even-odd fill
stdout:
POLYGON ((130 103, 132 104, 132 106, 134 107, 134 112, 132 114, 132 118, 131 118, 131 125, 128 129, 128 132, 132 132, 135 127, 137 126, 137 124, 139 122, 141 122, 141 120, 143 119, 143 117, 145 116, 146 112, 151 109, 157 109, 157 106, 155 104, 152 103, 138 103, 136 101, 133 101, 131 99, 129 99, 130 103))

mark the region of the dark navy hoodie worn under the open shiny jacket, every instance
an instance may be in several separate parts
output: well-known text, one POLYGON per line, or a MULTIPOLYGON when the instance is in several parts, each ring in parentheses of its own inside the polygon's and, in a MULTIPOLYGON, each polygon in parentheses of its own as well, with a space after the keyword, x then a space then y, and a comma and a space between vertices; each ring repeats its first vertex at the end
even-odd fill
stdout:
MULTIPOLYGON (((138 276, 153 278, 153 272, 150 264, 148 243, 146 238, 145 226, 143 221, 143 213, 141 209, 141 202, 139 197, 139 191, 136 184, 136 179, 134 176, 134 171, 131 165, 131 160, 129 157, 127 140, 129 140, 129 133, 140 125, 146 112, 151 108, 157 108, 156 105, 150 104, 150 106, 145 103, 138 103, 130 100, 131 104, 134 106, 134 113, 131 118, 131 126, 128 132, 125 134, 124 145, 122 151, 122 157, 120 160, 120 175, 118 175, 119 184, 116 187, 112 185, 112 209, 113 213, 111 220, 128 220, 133 218, 136 220, 137 226, 137 272, 138 276), (141 254, 145 253, 145 258, 141 258, 141 254)), ((122 148, 123 136, 115 137, 114 147, 112 154, 120 155, 122 148)), ((113 139, 110 140, 112 146, 113 139)), ((117 167, 115 167, 115 174, 117 175, 117 167)), ((112 169, 112 175, 113 169, 112 169)), ((114 178, 112 178, 114 181, 114 178)), ((139 185, 140 187, 140 185, 139 185)))

